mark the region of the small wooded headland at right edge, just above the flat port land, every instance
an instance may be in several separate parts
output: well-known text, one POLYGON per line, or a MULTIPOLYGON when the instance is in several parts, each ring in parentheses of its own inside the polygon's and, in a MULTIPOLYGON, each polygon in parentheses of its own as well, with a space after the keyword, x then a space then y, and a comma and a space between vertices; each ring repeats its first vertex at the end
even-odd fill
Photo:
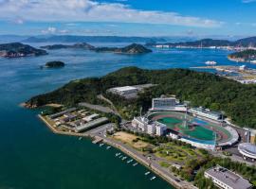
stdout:
POLYGON ((247 49, 240 52, 232 53, 228 56, 229 60, 233 61, 248 61, 248 62, 256 62, 256 50, 247 49))

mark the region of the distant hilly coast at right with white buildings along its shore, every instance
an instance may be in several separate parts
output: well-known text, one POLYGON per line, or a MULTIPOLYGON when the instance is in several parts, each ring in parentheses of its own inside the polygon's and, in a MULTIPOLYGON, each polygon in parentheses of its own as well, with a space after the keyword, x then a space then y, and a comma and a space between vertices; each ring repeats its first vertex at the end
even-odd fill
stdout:
POLYGON ((168 47, 193 47, 193 48, 210 48, 210 47, 256 47, 256 37, 244 38, 234 42, 228 40, 202 39, 193 42, 182 43, 146 43, 147 46, 168 46, 168 47))

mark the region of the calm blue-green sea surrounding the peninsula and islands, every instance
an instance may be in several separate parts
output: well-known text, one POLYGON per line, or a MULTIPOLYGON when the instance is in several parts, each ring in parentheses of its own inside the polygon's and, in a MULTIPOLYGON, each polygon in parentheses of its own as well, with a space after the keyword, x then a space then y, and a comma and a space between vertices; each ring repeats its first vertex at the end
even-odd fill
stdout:
POLYGON ((150 181, 144 175, 145 167, 121 162, 115 157, 116 149, 106 150, 89 140, 51 133, 37 118, 37 111, 18 105, 71 79, 101 77, 125 66, 188 68, 204 65, 206 60, 237 64, 227 60, 228 53, 154 49, 151 54, 128 56, 54 50, 43 57, 0 59, 0 188, 170 188, 159 178, 150 181), (59 70, 39 69, 48 60, 63 60, 66 66, 59 70))

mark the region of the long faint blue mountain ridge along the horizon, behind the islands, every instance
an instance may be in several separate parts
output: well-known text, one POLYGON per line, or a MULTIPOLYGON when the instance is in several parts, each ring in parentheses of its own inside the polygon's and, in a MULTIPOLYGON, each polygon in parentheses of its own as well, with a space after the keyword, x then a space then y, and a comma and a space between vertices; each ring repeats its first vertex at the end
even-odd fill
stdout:
POLYGON ((38 36, 29 37, 24 43, 147 43, 155 41, 166 42, 163 38, 146 37, 120 37, 120 36, 38 36))

